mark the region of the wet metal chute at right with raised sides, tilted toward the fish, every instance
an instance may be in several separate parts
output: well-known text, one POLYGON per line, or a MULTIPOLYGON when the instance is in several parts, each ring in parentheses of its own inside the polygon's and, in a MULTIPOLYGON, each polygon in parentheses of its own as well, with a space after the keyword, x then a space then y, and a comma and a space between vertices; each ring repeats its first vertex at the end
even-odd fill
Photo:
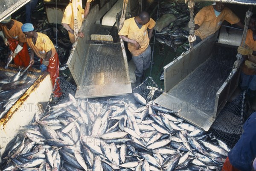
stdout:
MULTIPOLYGON (((170 89, 167 91, 165 89, 165 93, 159 96, 155 102, 177 111, 177 116, 193 125, 209 130, 216 115, 226 104, 230 93, 233 93, 233 88, 225 81, 230 75, 234 61, 236 61, 237 51, 236 48, 219 44, 215 44, 211 48, 212 42, 210 41, 204 41, 198 45, 200 47, 195 47, 192 52, 184 56, 186 57, 185 61, 179 57, 177 62, 172 62, 173 66, 165 67, 165 72, 169 74, 168 77, 165 75, 166 84, 169 81, 172 86, 166 85, 170 89), (200 64, 202 59, 206 59, 206 61, 200 64), (195 67, 194 70, 191 70, 191 66, 189 68, 188 61, 195 67), (198 62, 197 67, 195 62, 198 62), (173 76, 174 72, 177 77, 173 76), (173 86, 175 81, 176 84, 173 86), (224 84, 227 85, 227 88, 223 88, 224 84)), ((235 82, 233 83, 235 84, 235 82)))

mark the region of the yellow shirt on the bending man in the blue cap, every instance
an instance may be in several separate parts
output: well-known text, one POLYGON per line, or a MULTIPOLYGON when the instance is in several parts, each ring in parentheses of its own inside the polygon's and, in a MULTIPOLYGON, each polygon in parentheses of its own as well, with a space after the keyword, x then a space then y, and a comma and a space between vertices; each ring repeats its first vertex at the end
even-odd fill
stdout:
POLYGON ((49 39, 49 37, 47 35, 45 35, 43 33, 37 32, 37 34, 38 34, 38 38, 37 38, 35 44, 33 43, 32 38, 26 38, 26 41, 27 41, 29 47, 41 59, 45 59, 46 53, 49 52, 50 50, 52 50, 52 55, 50 57, 50 58, 52 58, 56 53, 56 49, 55 49, 52 41, 49 39))

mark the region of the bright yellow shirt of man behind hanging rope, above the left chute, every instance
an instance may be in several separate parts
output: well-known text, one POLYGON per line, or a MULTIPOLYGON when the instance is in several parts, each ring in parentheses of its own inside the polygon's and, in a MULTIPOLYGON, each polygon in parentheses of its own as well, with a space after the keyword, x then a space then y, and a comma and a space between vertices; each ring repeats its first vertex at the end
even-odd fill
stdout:
MULTIPOLYGON (((78 26, 78 29, 80 29, 84 20, 84 10, 82 8, 81 0, 80 1, 76 0, 76 1, 77 1, 76 3, 77 3, 77 21, 78 21, 77 26, 78 26)), ((70 28, 74 30, 74 16, 75 16, 75 13, 73 9, 73 4, 69 3, 64 11, 61 23, 68 24, 70 28)), ((75 43, 76 41, 75 35, 70 32, 68 32, 68 35, 70 37, 71 43, 75 43)))

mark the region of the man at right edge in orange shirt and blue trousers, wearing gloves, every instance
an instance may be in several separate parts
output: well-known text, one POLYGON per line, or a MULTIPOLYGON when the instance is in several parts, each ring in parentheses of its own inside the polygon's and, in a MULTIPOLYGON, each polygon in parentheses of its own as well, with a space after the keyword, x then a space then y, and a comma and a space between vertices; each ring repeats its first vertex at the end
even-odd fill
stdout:
POLYGON ((251 107, 256 110, 256 14, 250 18, 245 44, 246 47, 238 48, 238 52, 244 58, 241 89, 246 90, 251 107))

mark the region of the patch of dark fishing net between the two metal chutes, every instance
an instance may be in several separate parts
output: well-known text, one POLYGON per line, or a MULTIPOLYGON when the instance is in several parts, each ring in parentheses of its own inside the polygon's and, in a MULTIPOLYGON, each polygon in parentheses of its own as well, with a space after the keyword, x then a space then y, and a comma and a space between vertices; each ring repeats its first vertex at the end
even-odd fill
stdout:
POLYGON ((133 92, 139 93, 148 102, 157 99, 163 93, 163 90, 157 86, 153 78, 147 77, 143 83, 134 87, 133 92))

